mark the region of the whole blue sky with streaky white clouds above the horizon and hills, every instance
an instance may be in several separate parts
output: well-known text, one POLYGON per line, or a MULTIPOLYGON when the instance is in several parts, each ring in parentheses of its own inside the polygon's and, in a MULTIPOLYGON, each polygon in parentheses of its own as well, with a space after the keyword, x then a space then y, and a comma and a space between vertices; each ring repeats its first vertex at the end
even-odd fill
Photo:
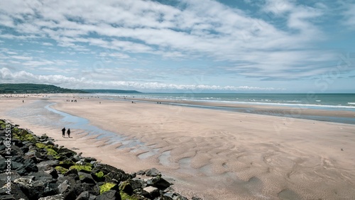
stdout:
POLYGON ((354 69, 354 0, 0 1, 0 83, 354 93, 354 69))

